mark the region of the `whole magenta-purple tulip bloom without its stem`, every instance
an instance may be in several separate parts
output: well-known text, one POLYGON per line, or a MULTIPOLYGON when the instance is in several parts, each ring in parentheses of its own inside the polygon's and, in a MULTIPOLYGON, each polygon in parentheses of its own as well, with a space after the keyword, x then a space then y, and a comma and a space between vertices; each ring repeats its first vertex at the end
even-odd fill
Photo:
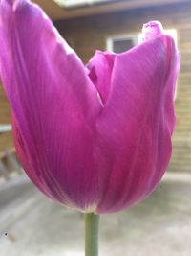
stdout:
POLYGON ((87 66, 38 6, 0 4, 0 76, 20 162, 49 198, 96 214, 148 197, 171 156, 175 42, 159 22, 122 54, 87 66))

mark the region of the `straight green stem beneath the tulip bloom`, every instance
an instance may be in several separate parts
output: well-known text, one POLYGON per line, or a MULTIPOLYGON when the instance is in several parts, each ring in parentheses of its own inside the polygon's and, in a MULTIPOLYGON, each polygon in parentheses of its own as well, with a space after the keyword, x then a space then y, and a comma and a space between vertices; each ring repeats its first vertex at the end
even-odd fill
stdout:
POLYGON ((85 214, 85 256, 98 256, 98 222, 98 215, 85 214))

